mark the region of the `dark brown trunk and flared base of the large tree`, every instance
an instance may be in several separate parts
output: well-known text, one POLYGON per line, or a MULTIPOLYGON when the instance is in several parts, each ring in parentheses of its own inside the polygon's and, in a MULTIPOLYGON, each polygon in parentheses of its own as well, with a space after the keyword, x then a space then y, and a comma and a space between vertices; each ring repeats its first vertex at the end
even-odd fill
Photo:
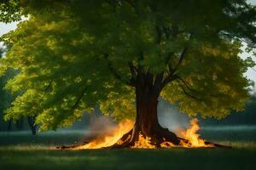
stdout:
MULTIPOLYGON (((175 133, 170 132, 167 128, 160 126, 157 117, 157 105, 159 91, 152 89, 150 86, 138 84, 136 87, 137 116, 134 127, 129 133, 126 133, 120 140, 124 143, 114 145, 114 147, 130 147, 134 145, 139 135, 150 137, 151 142, 160 146, 163 141, 179 144, 180 140, 175 133)), ((119 143, 119 142, 118 142, 119 143)))

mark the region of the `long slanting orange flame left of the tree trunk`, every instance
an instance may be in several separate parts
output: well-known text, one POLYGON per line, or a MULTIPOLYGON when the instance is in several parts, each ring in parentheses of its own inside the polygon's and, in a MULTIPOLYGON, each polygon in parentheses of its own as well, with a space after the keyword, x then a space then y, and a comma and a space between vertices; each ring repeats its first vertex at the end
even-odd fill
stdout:
POLYGON ((119 122, 116 127, 111 129, 111 133, 106 136, 94 139, 89 144, 84 144, 75 148, 75 150, 83 149, 100 149, 115 144, 125 133, 128 133, 133 126, 133 122, 129 119, 125 119, 123 122, 119 122))

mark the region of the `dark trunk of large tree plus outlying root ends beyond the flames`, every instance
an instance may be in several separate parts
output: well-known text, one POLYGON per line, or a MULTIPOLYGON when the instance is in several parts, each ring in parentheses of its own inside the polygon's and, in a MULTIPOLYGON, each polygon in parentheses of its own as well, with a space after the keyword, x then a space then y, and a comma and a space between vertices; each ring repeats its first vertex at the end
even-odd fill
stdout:
MULTIPOLYGON (((187 139, 179 138, 175 133, 160 126, 157 116, 157 105, 160 91, 163 87, 160 87, 160 83, 156 82, 161 82, 161 80, 162 78, 155 77, 155 80, 153 81, 153 77, 148 74, 143 75, 142 79, 140 79, 140 77, 137 78, 135 86, 137 116, 134 126, 128 133, 125 133, 119 141, 107 148, 130 148, 140 139, 140 135, 143 135, 144 138, 149 137, 151 144, 155 147, 161 147, 163 142, 171 142, 175 145, 181 144, 181 142, 183 144, 189 143, 187 139)), ((84 144, 88 144, 88 142, 78 145, 64 145, 57 148, 63 150, 73 149, 84 144)), ((212 143, 207 142, 207 144, 212 143)), ((220 144, 212 145, 216 147, 225 147, 220 144)))

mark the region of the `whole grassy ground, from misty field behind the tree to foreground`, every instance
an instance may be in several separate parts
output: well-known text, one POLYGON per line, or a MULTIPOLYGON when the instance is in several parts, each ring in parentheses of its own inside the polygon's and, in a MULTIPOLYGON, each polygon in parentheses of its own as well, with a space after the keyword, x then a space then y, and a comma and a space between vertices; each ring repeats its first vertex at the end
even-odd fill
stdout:
POLYGON ((84 133, 0 133, 0 169, 256 169, 255 129, 201 132, 232 149, 55 150, 84 133), (213 138, 214 137, 214 138, 213 138))

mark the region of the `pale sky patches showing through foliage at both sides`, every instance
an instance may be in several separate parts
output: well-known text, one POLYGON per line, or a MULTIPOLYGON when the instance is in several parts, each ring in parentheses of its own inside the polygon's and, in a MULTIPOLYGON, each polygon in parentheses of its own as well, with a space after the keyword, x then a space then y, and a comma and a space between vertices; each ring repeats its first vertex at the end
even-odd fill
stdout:
MULTIPOLYGON (((247 0, 247 2, 252 3, 253 5, 256 5, 256 0, 247 0)), ((15 28, 17 27, 17 24, 18 22, 12 22, 9 24, 0 22, 0 36, 2 36, 3 34, 11 30, 15 30, 15 28)), ((0 46, 1 45, 2 44, 0 43, 0 46)), ((252 54, 247 54, 247 53, 241 54, 242 59, 245 59, 249 56, 252 56, 252 54)), ((256 57, 252 57, 252 58, 256 62, 256 57)), ((253 82, 256 82, 256 66, 254 66, 253 68, 249 68, 245 76, 253 80, 253 82)))

